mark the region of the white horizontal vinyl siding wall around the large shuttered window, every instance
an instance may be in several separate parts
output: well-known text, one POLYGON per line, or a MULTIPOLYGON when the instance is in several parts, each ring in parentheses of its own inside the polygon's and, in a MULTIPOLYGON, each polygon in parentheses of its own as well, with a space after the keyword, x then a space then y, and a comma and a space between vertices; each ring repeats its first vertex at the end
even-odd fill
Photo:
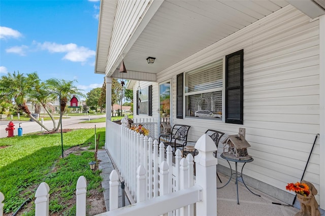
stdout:
MULTIPOLYGON (((285 191, 290 182, 300 181, 315 135, 319 133, 319 20, 310 19, 287 6, 227 38, 201 50, 157 74, 157 81, 214 62, 244 50, 244 124, 254 158, 244 174, 285 191)), ((157 88, 154 85, 154 88, 157 88)), ((173 104, 176 93, 173 92, 173 104)), ((154 103, 153 103, 154 104, 154 103)), ((238 132, 239 125, 220 121, 177 119, 190 125, 189 140, 197 140, 206 129, 238 132)), ((222 153, 219 145, 218 155, 222 153)), ((228 167, 225 160, 218 163, 228 167)), ((241 165, 239 165, 240 167, 241 165)), ((304 179, 319 189, 319 139, 304 179)), ((316 196, 319 200, 319 195, 316 196)))

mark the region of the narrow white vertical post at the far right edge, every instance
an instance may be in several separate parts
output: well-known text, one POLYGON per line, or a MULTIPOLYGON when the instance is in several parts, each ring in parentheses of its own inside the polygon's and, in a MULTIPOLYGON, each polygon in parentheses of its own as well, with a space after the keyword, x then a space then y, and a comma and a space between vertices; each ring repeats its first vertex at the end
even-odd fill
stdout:
POLYGON ((325 15, 319 17, 319 205, 325 209, 325 15))

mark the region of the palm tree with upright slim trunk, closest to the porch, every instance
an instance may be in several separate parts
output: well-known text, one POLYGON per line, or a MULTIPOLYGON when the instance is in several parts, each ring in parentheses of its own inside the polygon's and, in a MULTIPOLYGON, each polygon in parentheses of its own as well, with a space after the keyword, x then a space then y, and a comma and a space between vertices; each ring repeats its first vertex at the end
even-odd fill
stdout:
POLYGON ((55 97, 56 99, 59 100, 60 107, 61 107, 59 123, 57 124, 55 131, 59 130, 61 120, 62 120, 62 115, 68 103, 68 98, 70 98, 72 95, 85 97, 85 95, 82 94, 81 92, 78 92, 77 87, 73 85, 74 81, 66 81, 63 79, 59 80, 56 78, 48 79, 45 81, 45 84, 49 89, 49 91, 55 93, 55 97))

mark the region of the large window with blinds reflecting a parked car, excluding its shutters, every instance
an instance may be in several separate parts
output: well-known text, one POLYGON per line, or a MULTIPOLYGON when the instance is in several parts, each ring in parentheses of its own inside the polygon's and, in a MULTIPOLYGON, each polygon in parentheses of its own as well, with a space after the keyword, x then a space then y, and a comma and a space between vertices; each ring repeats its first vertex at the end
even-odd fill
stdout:
POLYGON ((222 59, 185 73, 185 116, 222 119, 222 59))

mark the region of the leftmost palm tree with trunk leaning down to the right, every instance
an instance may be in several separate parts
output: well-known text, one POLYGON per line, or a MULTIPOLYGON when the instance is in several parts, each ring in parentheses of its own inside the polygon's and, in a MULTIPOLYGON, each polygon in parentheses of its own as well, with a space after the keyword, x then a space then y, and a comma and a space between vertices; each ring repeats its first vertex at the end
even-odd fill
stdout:
POLYGON ((1 77, 0 97, 14 98, 20 110, 24 111, 31 119, 48 131, 47 127, 31 115, 26 104, 29 94, 32 92, 35 83, 39 82, 39 80, 40 78, 36 72, 27 74, 27 76, 20 74, 19 71, 17 71, 17 74, 15 71, 13 74, 8 73, 1 77))

